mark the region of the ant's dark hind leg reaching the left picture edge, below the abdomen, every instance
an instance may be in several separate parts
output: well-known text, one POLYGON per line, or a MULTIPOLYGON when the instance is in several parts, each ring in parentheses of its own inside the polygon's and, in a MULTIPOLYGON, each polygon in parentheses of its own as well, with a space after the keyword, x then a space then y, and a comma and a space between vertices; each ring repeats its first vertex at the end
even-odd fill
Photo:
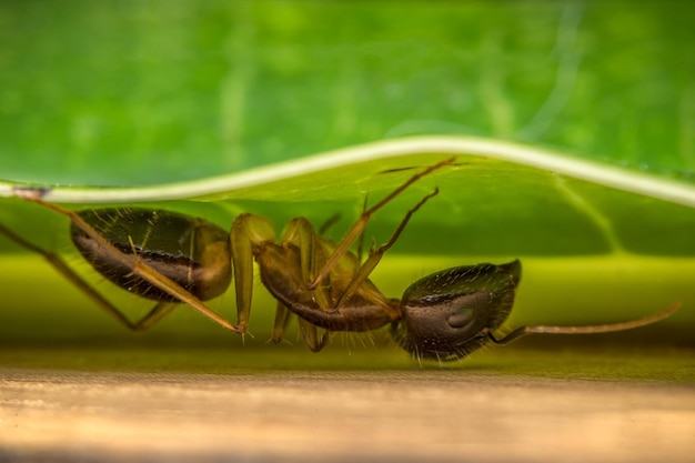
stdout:
MULTIPOLYGON (((58 254, 46 251, 37 246, 36 244, 24 240, 22 236, 18 235, 7 227, 0 224, 0 233, 4 234, 11 241, 21 245, 22 248, 28 249, 37 254, 40 254, 46 259, 46 261, 51 264, 53 269, 56 269, 60 274, 62 274, 68 281, 75 285, 80 291, 82 291, 88 298, 90 298, 93 302, 97 303, 100 308, 107 311, 111 316, 118 320, 125 328, 133 331, 142 331, 154 324, 154 322, 161 320, 169 311, 165 313, 158 313, 157 318, 153 318, 152 321, 147 321, 148 316, 143 320, 133 323, 121 312, 118 308, 115 308, 111 302, 109 302, 103 295, 101 295, 97 290, 94 290, 87 281, 84 281, 80 275, 78 275, 74 270, 72 270, 66 261, 63 261, 58 254)), ((159 306, 159 304, 158 304, 159 306)), ((157 309, 157 308, 155 308, 157 309)), ((152 311, 154 312, 154 310, 152 311)), ((151 312, 151 313, 152 313, 151 312)))

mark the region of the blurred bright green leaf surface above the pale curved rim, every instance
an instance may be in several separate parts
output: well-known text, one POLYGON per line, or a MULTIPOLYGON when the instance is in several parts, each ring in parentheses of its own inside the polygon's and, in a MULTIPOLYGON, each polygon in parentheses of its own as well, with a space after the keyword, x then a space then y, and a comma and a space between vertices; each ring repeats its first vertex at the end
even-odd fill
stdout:
POLYGON ((685 1, 0 4, 0 178, 139 185, 389 138, 548 145, 689 182, 685 1))

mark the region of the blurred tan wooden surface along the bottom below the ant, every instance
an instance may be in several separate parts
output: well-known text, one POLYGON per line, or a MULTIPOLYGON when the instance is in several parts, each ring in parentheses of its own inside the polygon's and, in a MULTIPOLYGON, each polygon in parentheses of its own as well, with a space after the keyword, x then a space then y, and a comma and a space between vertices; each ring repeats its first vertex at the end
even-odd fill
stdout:
POLYGON ((0 369, 0 461, 692 462, 692 382, 0 369))

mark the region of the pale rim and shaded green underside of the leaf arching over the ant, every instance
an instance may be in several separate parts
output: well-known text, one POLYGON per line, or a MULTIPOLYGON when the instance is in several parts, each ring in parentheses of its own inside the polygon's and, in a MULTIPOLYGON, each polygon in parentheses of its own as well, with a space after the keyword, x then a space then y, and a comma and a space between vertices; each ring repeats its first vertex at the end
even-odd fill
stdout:
MULTIPOLYGON (((354 220, 367 194, 380 198, 405 182, 416 169, 462 152, 472 154, 457 155, 455 165, 421 180, 394 204, 380 211, 370 233, 386 240, 405 211, 437 185, 439 197, 417 212, 394 252, 430 255, 629 252, 678 256, 695 253, 692 239, 695 187, 538 149, 466 138, 394 140, 241 174, 161 187, 57 187, 41 190, 41 197, 49 202, 81 203, 214 201, 220 209, 216 218, 225 228, 231 223, 230 218, 242 211, 269 215, 279 225, 298 215, 321 223, 335 212, 348 212, 343 220, 349 222, 354 220), (417 155, 422 152, 445 154, 417 155), (423 241, 422 236, 427 240, 423 241)), ((0 194, 27 192, 33 194, 31 189, 0 184, 0 194)), ((202 211, 198 203, 169 207, 193 214, 202 211)), ((21 220, 22 214, 16 217, 21 220)), ((16 227, 21 228, 19 220, 16 227)))

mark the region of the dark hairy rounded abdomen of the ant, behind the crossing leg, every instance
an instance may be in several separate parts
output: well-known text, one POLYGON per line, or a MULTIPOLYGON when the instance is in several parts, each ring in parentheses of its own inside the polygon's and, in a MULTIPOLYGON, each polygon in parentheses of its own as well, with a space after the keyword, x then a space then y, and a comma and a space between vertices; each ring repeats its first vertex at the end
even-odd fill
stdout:
MULTIPOLYGON (((87 209, 78 215, 122 254, 137 255, 203 301, 222 294, 231 282, 229 234, 212 222, 141 208, 87 209)), ((111 282, 143 298, 177 301, 134 275, 132 266, 74 223, 70 236, 82 256, 111 282)))

